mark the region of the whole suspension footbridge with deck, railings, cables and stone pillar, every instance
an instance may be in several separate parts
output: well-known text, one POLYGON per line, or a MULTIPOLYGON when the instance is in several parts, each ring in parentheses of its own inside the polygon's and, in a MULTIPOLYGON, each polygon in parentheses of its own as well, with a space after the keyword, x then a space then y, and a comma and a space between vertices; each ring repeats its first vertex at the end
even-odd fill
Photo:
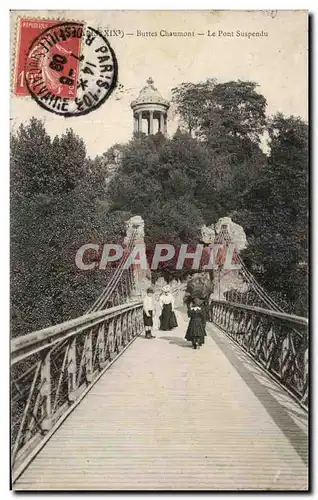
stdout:
POLYGON ((140 230, 135 218, 83 316, 11 341, 13 489, 307 490, 307 318, 238 256, 240 286, 211 295, 205 345, 184 340, 183 283, 178 327, 145 339, 144 276, 125 266, 140 230))

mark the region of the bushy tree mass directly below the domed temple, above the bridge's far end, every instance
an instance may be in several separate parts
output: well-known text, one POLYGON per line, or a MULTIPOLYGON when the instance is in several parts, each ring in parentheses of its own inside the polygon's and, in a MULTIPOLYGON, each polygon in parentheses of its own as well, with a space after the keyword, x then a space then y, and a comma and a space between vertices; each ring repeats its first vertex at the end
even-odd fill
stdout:
MULTIPOLYGON (((208 168, 204 148, 188 134, 177 134, 172 140, 161 134, 137 135, 125 148, 108 195, 113 210, 144 218, 150 262, 157 243, 175 247, 196 244, 203 223, 197 182, 208 168)), ((171 278, 180 275, 174 260, 162 266, 160 272, 171 278)), ((158 274, 153 273, 153 277, 158 274)))

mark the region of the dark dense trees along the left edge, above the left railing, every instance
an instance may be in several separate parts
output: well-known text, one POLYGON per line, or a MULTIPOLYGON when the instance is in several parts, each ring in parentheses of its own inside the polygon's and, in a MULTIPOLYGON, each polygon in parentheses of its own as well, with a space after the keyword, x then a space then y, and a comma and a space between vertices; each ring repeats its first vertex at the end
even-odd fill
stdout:
POLYGON ((100 160, 86 158, 71 130, 51 141, 32 119, 11 140, 12 335, 74 318, 88 309, 107 273, 81 271, 77 250, 120 240, 124 214, 108 214, 100 160))

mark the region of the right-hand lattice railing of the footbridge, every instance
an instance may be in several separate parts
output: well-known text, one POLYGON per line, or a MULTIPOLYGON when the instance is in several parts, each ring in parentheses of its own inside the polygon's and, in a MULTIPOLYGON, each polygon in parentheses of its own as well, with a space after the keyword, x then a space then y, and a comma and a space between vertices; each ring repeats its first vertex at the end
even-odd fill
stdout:
POLYGON ((308 319, 213 300, 210 320, 308 409, 308 319))

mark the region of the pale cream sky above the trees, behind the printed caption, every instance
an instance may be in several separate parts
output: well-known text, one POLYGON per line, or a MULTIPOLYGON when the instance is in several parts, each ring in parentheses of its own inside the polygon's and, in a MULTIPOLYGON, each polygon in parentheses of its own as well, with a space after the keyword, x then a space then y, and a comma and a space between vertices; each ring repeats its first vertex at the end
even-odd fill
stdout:
MULTIPOLYGON (((118 60, 118 82, 96 111, 64 118, 42 108, 31 97, 11 96, 10 122, 15 129, 32 116, 44 120, 51 136, 67 128, 81 136, 88 155, 103 154, 115 143, 126 142, 133 132, 130 108, 149 76, 161 95, 170 100, 171 89, 182 82, 216 78, 251 80, 267 99, 267 112, 297 115, 307 120, 307 13, 305 11, 16 11, 11 23, 11 53, 17 53, 17 17, 85 21, 104 29, 121 29, 125 35, 108 37, 118 60), (33 15, 34 14, 34 15, 33 15), (157 36, 137 36, 157 32, 157 36), (160 30, 204 33, 194 37, 160 36, 160 30), (208 30, 217 36, 208 36, 208 30), (268 36, 238 37, 236 31, 266 32, 268 36), (219 36, 219 31, 222 32, 219 36), (234 33, 233 36, 223 33, 234 33), (133 36, 127 33, 134 33, 133 36)), ((15 59, 12 59, 14 68, 15 59)), ((168 115, 168 134, 177 117, 168 115)))

